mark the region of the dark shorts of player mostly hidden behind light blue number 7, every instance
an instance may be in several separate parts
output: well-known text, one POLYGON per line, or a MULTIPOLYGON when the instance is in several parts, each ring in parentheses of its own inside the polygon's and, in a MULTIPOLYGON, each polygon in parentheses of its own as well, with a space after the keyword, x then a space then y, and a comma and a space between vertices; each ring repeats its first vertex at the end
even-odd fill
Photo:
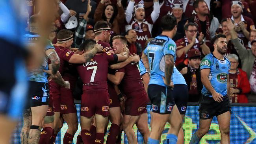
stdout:
POLYGON ((187 85, 177 84, 173 88, 174 102, 178 107, 180 114, 185 114, 187 109, 188 90, 187 85))

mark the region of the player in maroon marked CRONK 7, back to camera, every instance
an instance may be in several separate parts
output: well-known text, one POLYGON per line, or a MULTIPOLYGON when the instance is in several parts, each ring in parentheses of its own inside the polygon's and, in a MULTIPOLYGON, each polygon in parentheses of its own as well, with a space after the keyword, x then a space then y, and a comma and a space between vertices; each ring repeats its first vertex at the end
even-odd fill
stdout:
MULTIPOLYGON (((96 44, 93 40, 86 40, 84 51, 88 52, 96 44)), ((111 54, 103 52, 96 54, 91 61, 78 65, 76 69, 83 81, 83 95, 81 101, 81 137, 84 144, 104 142, 104 130, 108 123, 109 94, 108 94, 108 65, 117 61, 124 61, 128 53, 111 54), (96 138, 92 141, 90 127, 93 117, 96 119, 96 138)))

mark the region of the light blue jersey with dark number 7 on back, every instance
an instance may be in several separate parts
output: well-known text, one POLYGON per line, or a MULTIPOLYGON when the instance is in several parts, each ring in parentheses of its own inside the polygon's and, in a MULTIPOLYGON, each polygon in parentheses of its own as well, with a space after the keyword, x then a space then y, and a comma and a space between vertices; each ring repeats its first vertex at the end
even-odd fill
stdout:
POLYGON ((166 87, 163 83, 165 76, 165 60, 164 56, 171 54, 176 60, 176 43, 165 35, 158 35, 149 42, 144 54, 148 56, 148 63, 150 68, 150 84, 156 84, 166 87))

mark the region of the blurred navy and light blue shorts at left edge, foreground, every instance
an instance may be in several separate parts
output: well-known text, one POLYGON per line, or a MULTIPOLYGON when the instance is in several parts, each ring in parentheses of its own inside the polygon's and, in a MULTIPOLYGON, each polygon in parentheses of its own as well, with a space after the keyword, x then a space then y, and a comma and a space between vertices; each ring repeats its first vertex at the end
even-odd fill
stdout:
POLYGON ((18 119, 26 102, 28 89, 22 48, 0 39, 0 114, 18 119))

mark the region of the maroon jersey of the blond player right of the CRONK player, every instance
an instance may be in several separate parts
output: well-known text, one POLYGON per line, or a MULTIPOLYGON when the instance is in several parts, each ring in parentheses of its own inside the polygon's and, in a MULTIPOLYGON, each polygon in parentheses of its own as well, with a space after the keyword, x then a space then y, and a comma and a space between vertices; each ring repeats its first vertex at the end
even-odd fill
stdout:
POLYGON ((129 96, 132 92, 137 92, 137 94, 145 92, 137 63, 129 63, 124 68, 116 70, 116 72, 125 73, 119 86, 126 96, 129 96))

